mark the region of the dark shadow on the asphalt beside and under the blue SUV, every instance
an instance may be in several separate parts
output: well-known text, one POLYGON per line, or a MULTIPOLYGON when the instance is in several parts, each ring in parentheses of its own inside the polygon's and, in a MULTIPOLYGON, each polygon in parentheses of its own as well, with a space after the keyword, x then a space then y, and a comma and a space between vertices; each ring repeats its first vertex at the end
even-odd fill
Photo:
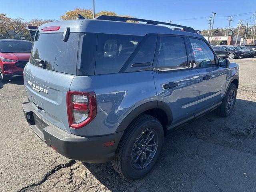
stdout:
POLYGON ((111 163, 84 166, 111 191, 256 191, 255 114, 256 102, 237 99, 227 118, 211 112, 168 134, 156 166, 136 181, 111 163))

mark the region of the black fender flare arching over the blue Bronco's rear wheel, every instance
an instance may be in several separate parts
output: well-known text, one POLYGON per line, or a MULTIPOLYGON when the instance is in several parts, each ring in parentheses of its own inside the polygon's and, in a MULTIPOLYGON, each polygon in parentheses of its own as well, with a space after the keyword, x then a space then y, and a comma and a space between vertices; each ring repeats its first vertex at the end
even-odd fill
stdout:
POLYGON ((132 110, 132 112, 130 112, 124 118, 124 120, 122 120, 122 122, 120 123, 120 125, 116 129, 116 132, 125 131, 126 128, 129 126, 129 124, 137 116, 139 116, 143 112, 145 112, 147 110, 150 110, 150 109, 161 109, 161 110, 163 110, 166 113, 166 116, 168 118, 167 119, 167 126, 171 124, 171 122, 172 122, 172 110, 170 109, 170 106, 168 106, 168 104, 166 104, 165 102, 162 102, 162 101, 150 101, 150 102, 146 102, 146 103, 138 106, 134 110, 132 110))

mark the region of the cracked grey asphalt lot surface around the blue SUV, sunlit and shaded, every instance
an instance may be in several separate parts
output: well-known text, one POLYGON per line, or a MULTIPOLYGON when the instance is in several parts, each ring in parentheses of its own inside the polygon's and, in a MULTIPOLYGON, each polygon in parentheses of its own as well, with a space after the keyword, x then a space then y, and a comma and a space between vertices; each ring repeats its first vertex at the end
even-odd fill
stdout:
POLYGON ((127 181, 110 163, 69 160, 46 146, 22 112, 22 78, 0 83, 0 191, 256 191, 256 58, 236 59, 240 85, 228 118, 214 112, 168 134, 155 168, 127 181))

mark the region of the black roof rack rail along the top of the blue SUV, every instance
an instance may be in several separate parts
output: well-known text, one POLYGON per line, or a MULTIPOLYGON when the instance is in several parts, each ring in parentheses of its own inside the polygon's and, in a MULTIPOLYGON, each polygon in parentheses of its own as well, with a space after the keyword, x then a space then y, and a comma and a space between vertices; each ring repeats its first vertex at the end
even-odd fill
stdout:
POLYGON ((197 33, 191 27, 187 27, 187 26, 183 26, 183 25, 177 25, 177 24, 173 24, 173 23, 166 23, 166 22, 160 22, 160 21, 146 20, 146 19, 138 19, 138 18, 130 18, 130 17, 119 17, 119 16, 109 16, 109 15, 101 15, 101 16, 96 17, 95 19, 109 20, 109 21, 122 21, 122 22, 126 22, 127 20, 130 20, 130 21, 142 21, 142 22, 146 22, 147 24, 151 24, 151 25, 162 24, 162 25, 169 25, 169 26, 174 26, 174 27, 180 27, 180 28, 183 28, 183 30, 186 31, 186 32, 197 33))

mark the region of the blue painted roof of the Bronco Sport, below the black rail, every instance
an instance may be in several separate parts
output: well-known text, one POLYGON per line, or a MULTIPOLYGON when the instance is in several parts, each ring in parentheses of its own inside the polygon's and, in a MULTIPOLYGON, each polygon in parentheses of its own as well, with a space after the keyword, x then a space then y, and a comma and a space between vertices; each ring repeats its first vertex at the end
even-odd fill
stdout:
MULTIPOLYGON (((146 34, 174 34, 193 36, 203 38, 202 35, 192 32, 184 32, 180 30, 172 30, 166 26, 132 23, 132 22, 120 22, 120 21, 108 21, 108 20, 96 20, 96 19, 84 19, 84 20, 59 20, 41 25, 38 30, 42 32, 42 28, 49 26, 60 26, 58 32, 64 32, 66 27, 70 28, 70 32, 91 32, 91 33, 106 33, 106 34, 123 34, 123 35, 138 35, 144 36, 146 34)), ((49 31, 47 33, 56 33, 56 31, 49 31)))

